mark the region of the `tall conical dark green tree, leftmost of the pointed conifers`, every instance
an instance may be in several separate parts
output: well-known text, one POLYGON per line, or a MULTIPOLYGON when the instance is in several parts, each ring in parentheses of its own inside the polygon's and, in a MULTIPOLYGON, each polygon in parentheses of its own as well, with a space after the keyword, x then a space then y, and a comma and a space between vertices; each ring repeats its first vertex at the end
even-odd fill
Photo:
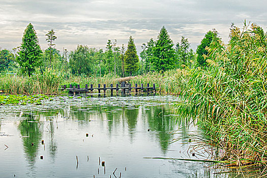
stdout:
POLYGON ((29 76, 33 74, 36 67, 42 64, 42 50, 32 23, 29 23, 24 31, 17 62, 21 67, 22 74, 29 76))

